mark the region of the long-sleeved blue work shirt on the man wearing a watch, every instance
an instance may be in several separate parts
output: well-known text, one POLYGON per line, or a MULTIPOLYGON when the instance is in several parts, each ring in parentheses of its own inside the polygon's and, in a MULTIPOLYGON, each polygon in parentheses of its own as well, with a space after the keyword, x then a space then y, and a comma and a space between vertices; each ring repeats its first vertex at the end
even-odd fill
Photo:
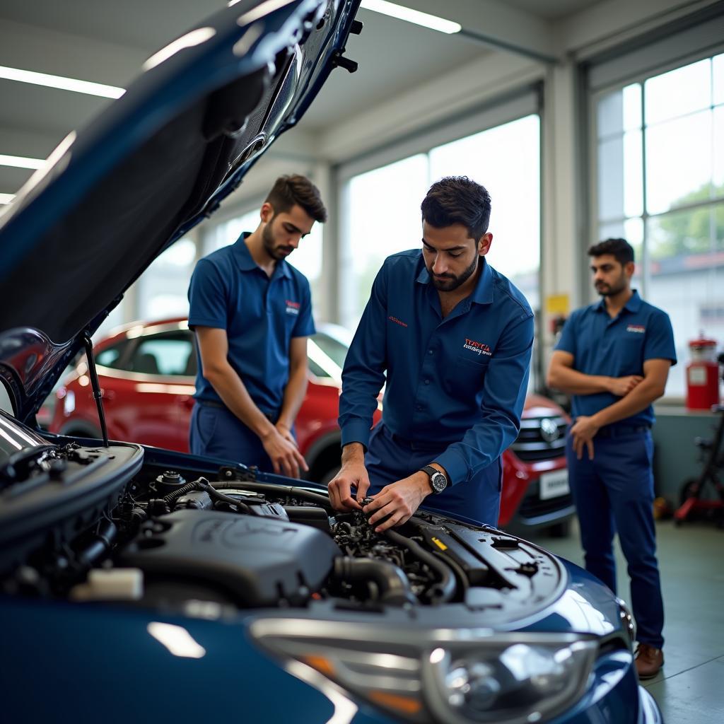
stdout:
POLYGON ((484 258, 472 294, 443 319, 421 250, 388 257, 342 373, 342 445, 367 447, 387 371, 384 425, 447 445, 435 461, 452 484, 468 481, 518 436, 532 344, 526 298, 484 258))

